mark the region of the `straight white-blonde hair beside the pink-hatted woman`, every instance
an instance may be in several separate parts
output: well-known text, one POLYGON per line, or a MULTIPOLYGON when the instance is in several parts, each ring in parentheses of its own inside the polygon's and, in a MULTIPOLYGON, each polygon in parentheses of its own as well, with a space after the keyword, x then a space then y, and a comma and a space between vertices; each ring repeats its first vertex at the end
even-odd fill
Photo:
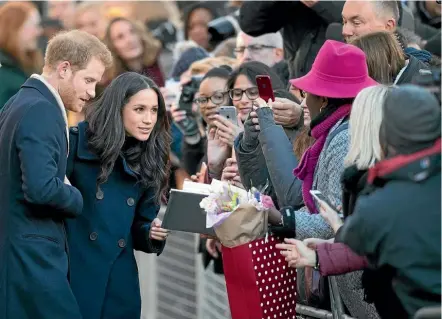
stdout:
POLYGON ((344 162, 346 167, 356 165, 358 169, 365 170, 381 159, 379 132, 388 89, 377 85, 362 90, 356 96, 349 121, 350 147, 344 162))

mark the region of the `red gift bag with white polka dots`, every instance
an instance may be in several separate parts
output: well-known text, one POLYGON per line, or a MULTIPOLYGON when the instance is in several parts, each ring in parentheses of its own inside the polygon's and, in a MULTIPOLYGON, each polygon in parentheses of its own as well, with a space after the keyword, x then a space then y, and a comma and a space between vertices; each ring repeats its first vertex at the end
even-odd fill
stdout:
POLYGON ((268 236, 222 247, 232 319, 295 319, 296 270, 289 268, 268 236))

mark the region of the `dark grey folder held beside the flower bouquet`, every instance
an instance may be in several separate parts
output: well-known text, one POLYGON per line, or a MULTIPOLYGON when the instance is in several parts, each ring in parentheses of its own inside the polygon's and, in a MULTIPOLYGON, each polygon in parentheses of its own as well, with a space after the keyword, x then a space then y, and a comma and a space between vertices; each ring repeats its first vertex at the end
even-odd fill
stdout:
POLYGON ((207 195, 172 189, 161 227, 215 236, 213 228, 206 228, 206 212, 200 207, 205 197, 207 195))

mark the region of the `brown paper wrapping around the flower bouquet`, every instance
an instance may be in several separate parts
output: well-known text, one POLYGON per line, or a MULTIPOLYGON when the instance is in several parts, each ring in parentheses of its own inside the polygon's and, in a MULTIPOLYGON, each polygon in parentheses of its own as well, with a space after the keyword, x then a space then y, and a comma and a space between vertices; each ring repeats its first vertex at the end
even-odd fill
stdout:
POLYGON ((214 230, 223 246, 240 246, 265 236, 267 218, 267 211, 260 212, 251 204, 241 204, 214 230))

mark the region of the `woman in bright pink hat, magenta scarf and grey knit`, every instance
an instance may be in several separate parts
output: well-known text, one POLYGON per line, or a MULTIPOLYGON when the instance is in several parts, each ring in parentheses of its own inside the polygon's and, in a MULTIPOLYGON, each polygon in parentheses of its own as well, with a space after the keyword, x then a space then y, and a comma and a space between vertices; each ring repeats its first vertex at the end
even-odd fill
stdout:
MULTIPOLYGON (((282 219, 284 225, 294 225, 297 239, 329 239, 334 236, 333 230, 318 214, 310 191, 319 190, 335 206, 342 205, 340 179, 349 146, 351 104, 362 89, 377 83, 369 77, 365 55, 359 48, 332 40, 322 46, 311 71, 290 82, 303 92, 311 116, 310 135, 315 142, 293 171, 302 181, 305 207, 290 216, 286 216, 287 210, 273 211, 271 220, 282 219)), ((263 100, 257 102, 261 107, 267 106, 263 100)), ((351 299, 342 297, 344 302, 351 299)))

